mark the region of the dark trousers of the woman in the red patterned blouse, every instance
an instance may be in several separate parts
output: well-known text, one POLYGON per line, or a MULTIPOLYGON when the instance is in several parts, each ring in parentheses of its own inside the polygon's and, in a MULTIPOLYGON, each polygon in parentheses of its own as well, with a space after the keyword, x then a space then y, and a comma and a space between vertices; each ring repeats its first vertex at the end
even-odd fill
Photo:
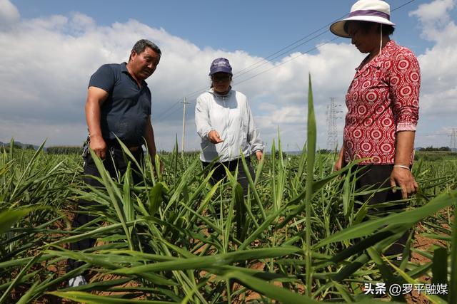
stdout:
MULTIPOLYGON (((356 182, 357 189, 364 189, 369 186, 374 186, 373 188, 385 188, 390 187, 390 177, 393 170, 393 164, 369 164, 358 166, 357 177, 358 181, 356 182)), ((363 201, 368 201, 368 204, 381 204, 386 201, 396 201, 402 199, 401 191, 393 193, 391 189, 387 189, 381 192, 376 192, 374 194, 366 194, 362 196, 363 201)), ((377 207, 370 209, 368 214, 386 214, 388 212, 399 212, 406 209, 406 203, 397 203, 394 206, 386 207, 377 207)), ((403 253, 403 248, 408 241, 410 231, 406 231, 403 236, 401 236, 396 243, 387 249, 384 253, 386 256, 391 256, 395 254, 403 253)))

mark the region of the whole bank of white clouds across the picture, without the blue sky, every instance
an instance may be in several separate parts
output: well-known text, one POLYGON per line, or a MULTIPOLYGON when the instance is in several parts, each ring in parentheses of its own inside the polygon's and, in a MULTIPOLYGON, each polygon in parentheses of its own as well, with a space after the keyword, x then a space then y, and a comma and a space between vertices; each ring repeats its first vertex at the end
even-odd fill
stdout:
MULTIPOLYGON (((440 122, 449 127, 456 112, 450 111, 455 108, 457 55, 453 46, 457 35, 453 21, 445 25, 433 21, 446 18, 453 8, 453 2, 445 0, 430 5, 441 2, 445 8, 433 18, 422 6, 411 16, 423 22, 424 28, 425 23, 432 24, 435 27, 428 30, 437 32, 433 48, 418 56, 423 79, 421 117, 439 116, 440 122)), ((0 16, 5 15, 4 7, 8 5, 12 6, 9 1, 0 0, 0 16)), ((163 51, 156 73, 148 80, 153 93, 152 117, 158 148, 171 149, 175 135, 179 135, 181 142, 179 101, 188 96, 191 105, 187 111, 186 148, 196 150, 199 139, 193 117, 198 94, 190 93, 209 88, 211 61, 220 56, 229 58, 234 74, 240 75, 244 68, 252 69, 262 60, 241 50, 199 48, 191 41, 172 36, 164 28, 151 28, 136 20, 99 26, 91 17, 79 13, 30 20, 21 20, 19 12, 14 16, 11 19, 14 27, 0 27, 0 141, 3 142, 15 137, 38 145, 48 137, 48 145, 79 145, 86 137, 84 102, 90 75, 101 64, 126 61, 135 41, 149 38, 163 51), (171 105, 174 108, 161 115, 171 105)), ((326 105, 331 97, 343 105, 353 69, 361 58, 363 55, 348 41, 328 43, 313 54, 292 53, 279 61, 265 63, 235 78, 234 88, 248 96, 263 140, 271 142, 279 128, 284 147, 288 145, 296 150, 306 140, 308 73, 311 73, 318 145, 325 147, 326 105)), ((421 125, 422 130, 432 127, 426 119, 423 122, 426 124, 421 125)), ((338 120, 338 130, 342 125, 343 120, 338 120)))

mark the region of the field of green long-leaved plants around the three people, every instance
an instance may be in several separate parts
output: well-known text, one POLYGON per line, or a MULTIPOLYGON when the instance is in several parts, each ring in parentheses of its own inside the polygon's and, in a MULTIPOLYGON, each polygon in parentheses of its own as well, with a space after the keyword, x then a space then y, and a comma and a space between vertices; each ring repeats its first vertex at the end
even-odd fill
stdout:
POLYGON ((353 187, 355 164, 334 173, 333 154, 267 155, 256 162, 246 197, 231 176, 211 186, 198 154, 160 157, 164 171, 147 162, 139 186, 131 172, 114 179, 105 172, 103 188, 87 189, 78 154, 5 150, 0 303, 411 302, 413 293, 366 294, 378 283, 447 284, 446 294, 424 291, 421 298, 456 303, 452 157, 419 155, 413 173, 421 189, 408 209, 368 221, 371 206, 353 187), (71 229, 79 198, 94 201, 88 211, 97 219, 71 229), (411 228, 411 261, 383 256, 411 228), (68 250, 85 238, 96 238, 96 246, 68 250), (417 238, 429 246, 415 248, 417 238), (66 273, 68 258, 84 266, 66 273), (85 270, 89 284, 68 288, 85 270))

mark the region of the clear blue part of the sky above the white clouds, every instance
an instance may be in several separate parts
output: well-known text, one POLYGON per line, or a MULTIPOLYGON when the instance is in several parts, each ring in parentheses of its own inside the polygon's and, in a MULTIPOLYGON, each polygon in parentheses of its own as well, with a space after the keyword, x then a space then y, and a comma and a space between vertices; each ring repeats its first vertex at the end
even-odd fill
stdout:
MULTIPOLYGON (((428 1, 391 1, 391 9, 406 4, 392 12, 398 24, 398 42, 423 51, 429 43, 419 41, 421 28, 408 12, 428 1)), ((326 1, 135 1, 134 4, 109 1, 11 1, 21 17, 31 19, 55 14, 68 16, 80 12, 91 16, 99 25, 124 23, 135 19, 154 28, 164 28, 174 36, 184 38, 204 48, 226 51, 243 50, 251 55, 266 57, 289 43, 316 31, 331 21, 348 14, 353 0, 326 1)), ((328 38, 331 33, 324 37, 328 38)), ((306 44, 298 51, 306 51, 306 44)))

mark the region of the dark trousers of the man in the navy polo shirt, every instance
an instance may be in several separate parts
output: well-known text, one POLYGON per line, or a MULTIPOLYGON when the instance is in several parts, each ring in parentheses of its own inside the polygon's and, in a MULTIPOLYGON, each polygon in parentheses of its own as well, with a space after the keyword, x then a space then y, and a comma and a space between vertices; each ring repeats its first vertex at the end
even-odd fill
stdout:
MULTIPOLYGON (((136 161, 141 164, 143 161, 143 150, 141 147, 138 147, 136 151, 131 151, 131 154, 134 155, 136 161)), ((90 153, 86 153, 86 155, 83 157, 84 160, 84 175, 93 175, 95 177, 100 177, 99 170, 97 169, 94 159, 92 159, 90 153)), ((128 159, 126 155, 124 155, 124 152, 121 150, 121 147, 119 145, 114 144, 108 144, 107 150, 106 150, 106 158, 103 161, 105 169, 109 172, 110 176, 113 178, 117 177, 117 174, 119 172, 119 176, 121 177, 127 169, 127 164, 129 163, 131 159, 128 159)), ((132 171, 132 178, 134 184, 139 184, 142 182, 142 177, 139 174, 139 169, 136 167, 136 164, 132 162, 131 168, 133 169, 132 171)), ((90 185, 92 187, 103 187, 102 184, 100 184, 96 179, 93 179, 91 177, 84 177, 84 183, 86 185, 90 185)), ((85 201, 84 199, 80 199, 78 202, 78 209, 77 211, 81 211, 86 209, 87 206, 92 206, 94 205, 94 202, 92 201, 85 201)), ((79 212, 76 212, 72 226, 73 228, 77 228, 80 226, 83 226, 89 221, 93 221, 96 217, 91 215, 91 214, 81 214, 79 212)), ((83 239, 81 241, 77 241, 75 243, 70 243, 70 250, 74 251, 82 251, 87 248, 94 247, 96 239, 83 239)), ((82 261, 75 261, 72 259, 69 259, 66 271, 72 271, 75 268, 78 268, 79 266, 84 265, 84 262, 82 261)))

